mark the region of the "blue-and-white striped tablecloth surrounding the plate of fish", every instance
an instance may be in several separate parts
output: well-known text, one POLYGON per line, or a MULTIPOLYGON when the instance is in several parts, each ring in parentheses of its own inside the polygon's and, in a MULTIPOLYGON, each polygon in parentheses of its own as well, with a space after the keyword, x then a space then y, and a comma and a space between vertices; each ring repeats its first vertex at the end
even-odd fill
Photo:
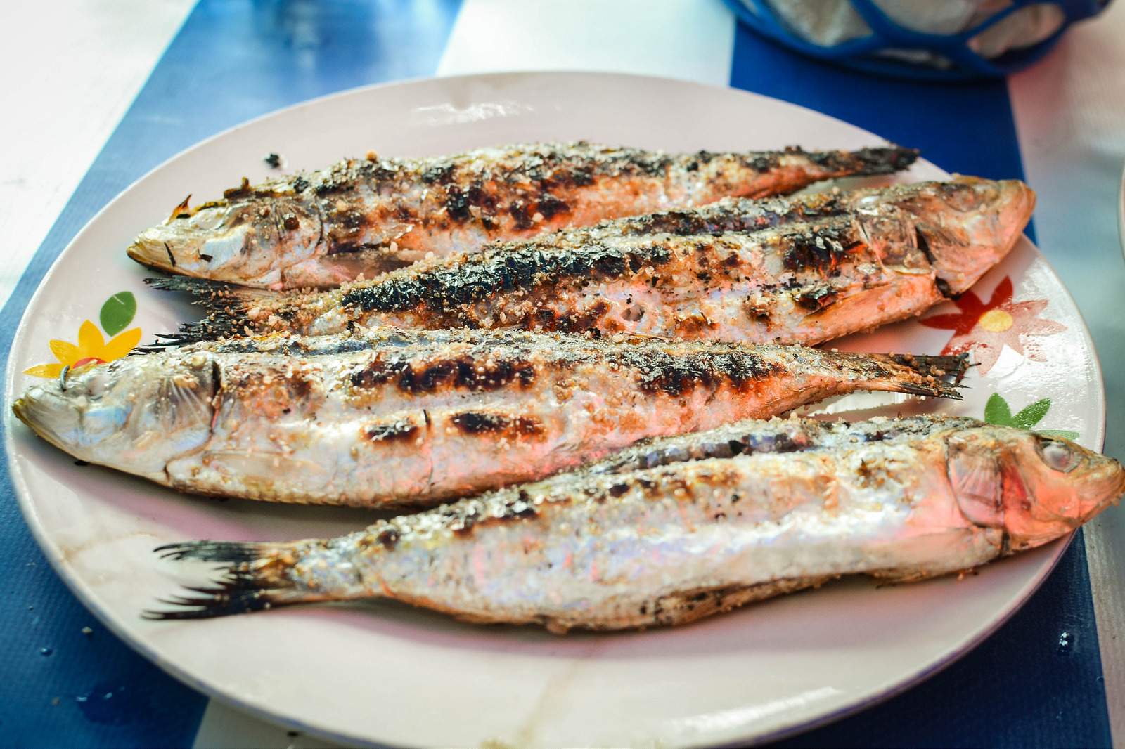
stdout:
MULTIPOLYGON (((602 70, 735 85, 921 147, 950 171, 1024 174, 1040 247, 1090 327, 1105 450, 1125 458, 1125 6, 1007 81, 912 84, 796 57, 719 0, 58 0, 6 3, 0 61, 0 350, 50 263, 160 161, 322 93, 424 75, 602 70), (626 29, 623 33, 622 29, 626 29)), ((7 423, 6 426, 7 428, 7 423)), ((0 736, 9 746, 333 746, 207 701, 133 653, 35 548, 0 471, 0 736), (107 697, 106 695, 114 695, 107 697)), ((893 700, 785 746, 1125 743, 1125 518, 1080 534, 976 650, 893 700), (1066 631, 1074 646, 1058 647, 1066 631)))

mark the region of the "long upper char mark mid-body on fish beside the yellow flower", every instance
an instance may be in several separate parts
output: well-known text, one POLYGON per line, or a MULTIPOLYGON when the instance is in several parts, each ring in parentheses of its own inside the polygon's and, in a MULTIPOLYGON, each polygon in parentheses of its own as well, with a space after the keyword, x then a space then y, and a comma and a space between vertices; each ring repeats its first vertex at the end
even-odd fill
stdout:
POLYGON ((399 390, 417 395, 440 388, 466 388, 484 391, 497 390, 515 382, 525 388, 536 379, 531 362, 519 359, 477 360, 472 357, 441 359, 415 367, 397 359, 375 360, 352 372, 351 383, 357 388, 374 388, 394 381, 399 390))

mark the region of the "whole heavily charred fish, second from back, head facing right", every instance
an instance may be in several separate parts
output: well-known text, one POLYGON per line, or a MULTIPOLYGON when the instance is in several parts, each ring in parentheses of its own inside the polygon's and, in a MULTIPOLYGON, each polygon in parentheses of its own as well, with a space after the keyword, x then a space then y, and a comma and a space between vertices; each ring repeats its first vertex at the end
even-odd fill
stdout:
POLYGON ((920 314, 998 263, 1030 218, 1018 180, 727 199, 493 244, 320 294, 194 291, 176 343, 351 327, 523 328, 811 345, 920 314))

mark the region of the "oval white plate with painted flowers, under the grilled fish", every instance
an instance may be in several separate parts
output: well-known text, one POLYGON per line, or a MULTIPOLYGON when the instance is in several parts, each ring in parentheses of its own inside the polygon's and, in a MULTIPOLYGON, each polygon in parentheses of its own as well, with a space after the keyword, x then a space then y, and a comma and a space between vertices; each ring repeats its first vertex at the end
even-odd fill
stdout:
MULTIPOLYGON (((12 394, 35 379, 21 372, 54 360, 48 341, 74 342, 83 321, 97 323, 102 303, 118 291, 135 295, 134 325, 146 341, 190 317, 186 305, 142 283, 145 271, 125 258, 124 249, 189 192, 206 199, 244 175, 251 181, 268 177, 261 161, 267 152, 282 154, 290 168, 313 169, 370 148, 428 155, 575 138, 669 151, 881 143, 845 123, 764 97, 623 75, 450 78, 304 103, 180 154, 82 229, 28 306, 11 351, 9 405, 12 394)), ((919 162, 900 179, 943 177, 919 162)), ((1050 300, 1035 314, 1065 326, 1025 340, 1037 346, 1033 353, 1042 361, 1004 349, 983 377, 970 374, 963 403, 906 403, 883 405, 883 410, 928 408, 979 417, 993 392, 1012 412, 1050 397, 1050 410, 1036 426, 1078 432, 1079 441, 1099 448, 1101 378, 1072 300, 1026 240, 975 292, 988 301, 1005 278, 1012 281, 1016 300, 1008 313, 1000 309, 1008 323, 1028 325, 1020 312, 1027 305, 1018 303, 1050 300)), ((947 304, 936 312, 956 308, 947 304)), ((1006 324, 1001 314, 989 321, 992 327, 1006 324)), ((950 335, 908 322, 836 345, 937 353, 950 335)), ((821 410, 885 403, 861 398, 821 410)), ((194 579, 158 561, 152 549, 159 544, 338 534, 374 516, 219 503, 78 467, 15 422, 10 408, 6 413, 11 476, 28 524, 63 578, 109 628, 212 695, 349 742, 665 747, 776 737, 881 700, 965 652, 1030 595, 1063 548, 1059 542, 960 581, 876 588, 844 580, 694 625, 640 633, 560 638, 532 628, 460 624, 393 603, 150 622, 141 619, 143 608, 194 579)))

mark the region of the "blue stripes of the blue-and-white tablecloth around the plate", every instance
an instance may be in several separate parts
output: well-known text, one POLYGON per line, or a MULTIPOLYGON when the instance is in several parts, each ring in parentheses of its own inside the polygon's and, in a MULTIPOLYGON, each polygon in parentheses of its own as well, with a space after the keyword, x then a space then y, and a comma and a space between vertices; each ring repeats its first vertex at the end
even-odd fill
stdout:
MULTIPOLYGON (((279 107, 432 74, 459 7, 459 0, 201 0, 0 312, 4 360, 51 263, 133 180, 197 141, 279 107)), ((863 76, 739 27, 730 84, 919 147, 950 171, 1023 175, 1004 81, 863 76)), ((0 745, 191 746, 206 697, 134 653, 74 598, 32 539, 7 463, 0 466, 0 745)), ((1109 745, 1079 533, 1043 587, 968 656, 880 705, 776 746, 1109 745)))

